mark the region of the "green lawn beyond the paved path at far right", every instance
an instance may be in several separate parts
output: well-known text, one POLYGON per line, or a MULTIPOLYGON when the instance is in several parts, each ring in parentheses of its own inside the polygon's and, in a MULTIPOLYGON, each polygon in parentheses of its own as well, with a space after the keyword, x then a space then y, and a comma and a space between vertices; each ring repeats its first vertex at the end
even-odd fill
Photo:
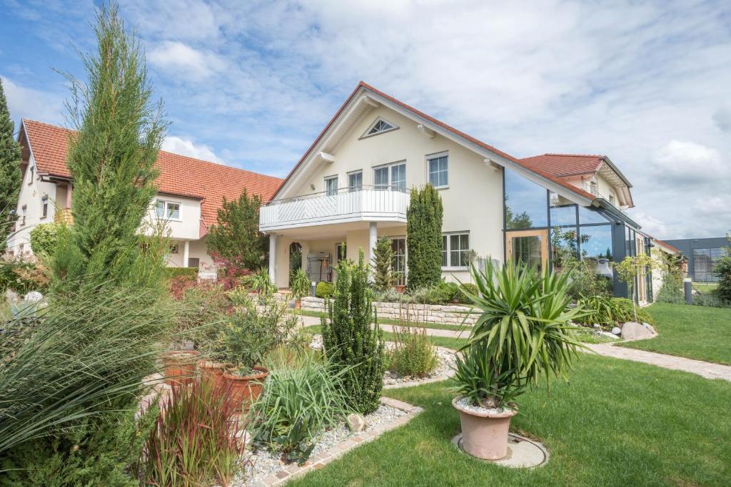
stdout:
POLYGON ((648 308, 659 336, 627 348, 731 365, 731 309, 656 303, 648 308))

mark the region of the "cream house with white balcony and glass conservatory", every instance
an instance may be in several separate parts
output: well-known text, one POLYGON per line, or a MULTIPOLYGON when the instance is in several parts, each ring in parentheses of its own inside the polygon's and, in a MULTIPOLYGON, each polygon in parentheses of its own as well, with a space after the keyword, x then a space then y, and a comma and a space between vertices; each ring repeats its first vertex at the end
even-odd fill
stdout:
MULTIPOLYGON (((623 296, 610 261, 654 246, 624 213, 632 185, 606 156, 515 158, 361 82, 262 207, 270 276, 286 287, 289 255, 301 248, 310 277, 332 280, 339 259, 357 258, 360 248, 371 258, 387 236, 393 268, 408 280, 409 188, 425 183, 444 204, 447 280, 469 281, 475 255, 553 268, 572 255, 591 260, 623 296)), ((641 302, 651 301, 652 287, 643 275, 641 302)))

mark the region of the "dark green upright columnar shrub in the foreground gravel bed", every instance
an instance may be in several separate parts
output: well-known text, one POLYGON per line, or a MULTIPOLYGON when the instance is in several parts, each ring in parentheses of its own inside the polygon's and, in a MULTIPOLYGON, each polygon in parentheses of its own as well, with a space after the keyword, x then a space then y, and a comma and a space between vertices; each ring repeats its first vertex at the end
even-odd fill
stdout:
POLYGON ((334 367, 347 369, 343 386, 349 406, 368 414, 379 404, 384 363, 383 333, 371 305, 363 250, 357 264, 340 261, 337 272, 334 299, 327 304, 330 323, 322 317, 322 345, 334 367))

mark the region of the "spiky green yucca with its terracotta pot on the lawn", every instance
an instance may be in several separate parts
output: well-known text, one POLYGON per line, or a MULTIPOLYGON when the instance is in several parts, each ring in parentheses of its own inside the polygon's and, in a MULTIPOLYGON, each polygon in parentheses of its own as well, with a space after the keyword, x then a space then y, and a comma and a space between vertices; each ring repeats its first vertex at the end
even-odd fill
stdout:
POLYGON ((496 460, 507 454, 515 399, 540 376, 565 375, 583 346, 572 326, 582 311, 569 309, 569 273, 539 273, 510 261, 499 269, 489 259, 484 271, 472 266, 471 272, 477 293, 463 292, 480 316, 457 358, 452 405, 464 450, 496 460))

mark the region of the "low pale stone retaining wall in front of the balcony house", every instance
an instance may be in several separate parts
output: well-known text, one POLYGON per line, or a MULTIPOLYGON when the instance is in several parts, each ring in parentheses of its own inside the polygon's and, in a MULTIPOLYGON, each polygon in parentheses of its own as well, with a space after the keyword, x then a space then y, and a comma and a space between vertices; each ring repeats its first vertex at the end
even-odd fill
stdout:
MULTIPOLYGON (((379 318, 398 320, 401 315, 406 318, 407 305, 402 303, 374 302, 374 307, 379 318)), ((325 299, 305 297, 302 298, 302 309, 305 311, 324 312, 325 299)), ((408 310, 412 321, 418 320, 425 323, 450 323, 461 325, 463 321, 469 326, 477 321, 477 316, 469 314, 471 308, 452 304, 409 304, 408 310)))

